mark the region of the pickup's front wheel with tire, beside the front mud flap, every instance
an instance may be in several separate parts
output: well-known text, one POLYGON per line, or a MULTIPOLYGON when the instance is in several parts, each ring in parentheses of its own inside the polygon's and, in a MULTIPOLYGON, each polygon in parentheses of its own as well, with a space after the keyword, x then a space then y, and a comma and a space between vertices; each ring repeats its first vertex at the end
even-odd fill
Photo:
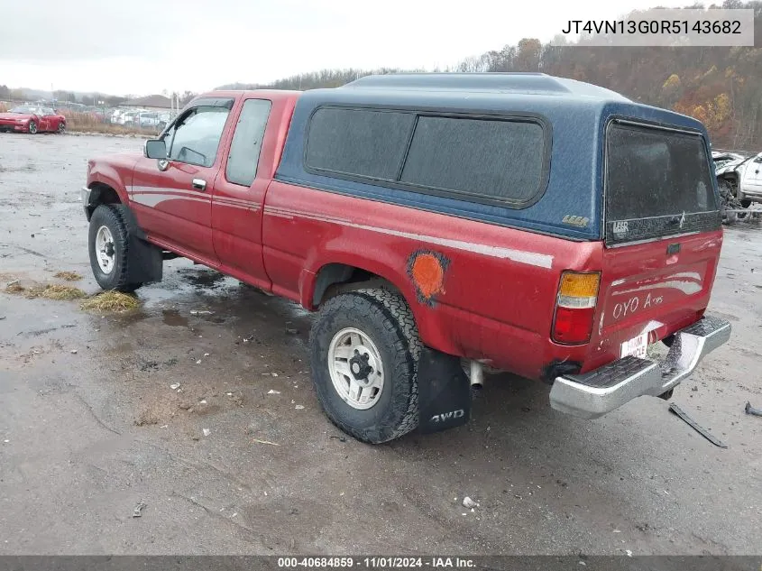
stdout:
POLYGON ((90 267, 104 290, 130 292, 141 283, 127 281, 130 235, 124 222, 124 206, 102 204, 90 217, 90 267))

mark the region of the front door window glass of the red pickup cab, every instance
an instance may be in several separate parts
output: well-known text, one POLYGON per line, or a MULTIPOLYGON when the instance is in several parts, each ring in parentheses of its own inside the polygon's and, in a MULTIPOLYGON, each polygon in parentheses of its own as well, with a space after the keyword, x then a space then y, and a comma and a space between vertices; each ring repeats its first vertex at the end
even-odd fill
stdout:
POLYGON ((185 115, 165 137, 170 161, 211 167, 229 113, 225 107, 209 106, 185 115))

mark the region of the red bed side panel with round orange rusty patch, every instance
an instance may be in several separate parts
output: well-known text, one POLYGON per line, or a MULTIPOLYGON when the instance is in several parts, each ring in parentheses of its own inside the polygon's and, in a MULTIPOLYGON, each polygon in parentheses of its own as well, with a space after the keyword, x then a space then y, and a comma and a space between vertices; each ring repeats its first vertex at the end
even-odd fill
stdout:
POLYGON ((600 268, 599 243, 278 180, 268 189, 263 231, 273 292, 308 308, 321 267, 346 263, 393 283, 424 343, 445 353, 490 356, 495 366, 538 378, 559 351, 569 359, 584 351, 548 339, 560 272, 600 268))

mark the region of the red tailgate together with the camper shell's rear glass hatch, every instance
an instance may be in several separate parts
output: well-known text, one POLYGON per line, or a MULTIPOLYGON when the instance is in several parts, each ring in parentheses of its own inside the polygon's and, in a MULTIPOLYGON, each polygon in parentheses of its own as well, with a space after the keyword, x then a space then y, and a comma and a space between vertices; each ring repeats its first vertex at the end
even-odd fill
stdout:
POLYGON ((722 244, 702 134, 616 120, 606 136, 601 288, 588 370, 645 357, 649 343, 701 318, 722 244))

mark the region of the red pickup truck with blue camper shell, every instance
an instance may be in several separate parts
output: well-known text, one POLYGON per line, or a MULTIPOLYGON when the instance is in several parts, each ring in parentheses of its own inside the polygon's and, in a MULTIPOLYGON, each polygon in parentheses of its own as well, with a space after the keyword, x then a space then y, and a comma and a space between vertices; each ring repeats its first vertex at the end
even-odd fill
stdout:
POLYGON ((466 422, 485 366, 583 418, 668 398, 730 337, 710 161, 701 123, 601 87, 402 74, 197 97, 82 198, 104 289, 179 255, 319 311, 317 398, 380 443, 466 422))

